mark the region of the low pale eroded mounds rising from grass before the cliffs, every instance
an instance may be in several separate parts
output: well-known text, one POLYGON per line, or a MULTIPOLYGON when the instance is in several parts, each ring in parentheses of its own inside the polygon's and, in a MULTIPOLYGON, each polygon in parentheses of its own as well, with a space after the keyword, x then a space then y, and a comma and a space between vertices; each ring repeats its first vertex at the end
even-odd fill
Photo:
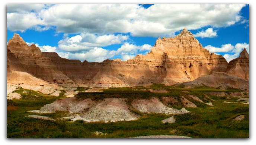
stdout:
MULTIPOLYGON (((132 102, 132 106, 140 112, 148 113, 185 114, 189 112, 185 108, 177 110, 166 107, 157 98, 152 98, 151 100, 135 100, 132 102)), ((64 117, 64 119, 71 119, 73 121, 115 122, 138 119, 138 116, 128 109, 125 99, 121 98, 107 98, 99 101, 93 101, 91 99, 77 100, 76 97, 65 98, 56 100, 51 104, 46 104, 40 110, 29 112, 40 114, 56 111, 69 112, 71 116, 64 117), (73 113, 78 115, 72 115, 73 113)))

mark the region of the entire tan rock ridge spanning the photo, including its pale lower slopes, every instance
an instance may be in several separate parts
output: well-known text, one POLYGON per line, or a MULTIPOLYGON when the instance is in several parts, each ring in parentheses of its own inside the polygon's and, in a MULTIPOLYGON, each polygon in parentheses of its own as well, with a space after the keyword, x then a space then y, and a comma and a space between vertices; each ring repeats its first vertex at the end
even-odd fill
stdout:
POLYGON ((16 87, 51 94, 63 87, 108 88, 183 82, 192 86, 249 89, 249 54, 244 49, 239 58, 227 63, 222 55, 203 48, 186 28, 174 38, 158 38, 150 53, 127 61, 68 60, 57 53, 41 52, 35 44, 28 46, 19 34, 14 34, 7 44, 7 94, 16 87))

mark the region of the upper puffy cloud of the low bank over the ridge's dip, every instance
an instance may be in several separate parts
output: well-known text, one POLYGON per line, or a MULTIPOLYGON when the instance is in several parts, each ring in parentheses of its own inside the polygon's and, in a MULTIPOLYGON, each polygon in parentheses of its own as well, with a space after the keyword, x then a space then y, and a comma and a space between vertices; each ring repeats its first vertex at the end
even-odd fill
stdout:
POLYGON ((129 36, 118 35, 102 35, 97 36, 96 34, 81 33, 80 35, 73 36, 71 38, 65 35, 63 40, 58 42, 58 47, 64 51, 81 51, 81 50, 91 50, 94 47, 103 47, 112 44, 121 44, 128 40, 129 36))

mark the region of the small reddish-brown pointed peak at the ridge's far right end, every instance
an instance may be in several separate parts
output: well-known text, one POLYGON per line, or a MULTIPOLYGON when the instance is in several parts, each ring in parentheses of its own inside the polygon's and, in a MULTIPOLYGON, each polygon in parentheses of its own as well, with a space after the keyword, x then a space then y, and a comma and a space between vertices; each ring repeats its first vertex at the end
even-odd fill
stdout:
POLYGON ((228 63, 227 74, 249 80, 249 54, 245 48, 238 58, 228 63))

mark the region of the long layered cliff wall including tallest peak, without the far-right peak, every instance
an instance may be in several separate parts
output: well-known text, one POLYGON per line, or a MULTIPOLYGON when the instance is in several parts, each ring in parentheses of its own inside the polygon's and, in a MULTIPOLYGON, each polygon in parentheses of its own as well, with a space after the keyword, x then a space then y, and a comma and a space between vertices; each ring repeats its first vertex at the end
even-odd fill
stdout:
MULTIPOLYGON (((11 71, 22 71, 58 85, 127 87, 150 83, 187 82, 212 72, 225 72, 227 61, 210 54, 184 29, 174 38, 159 38, 147 55, 127 61, 105 60, 89 63, 61 58, 28 46, 15 34, 7 45, 7 82, 11 71)), ((249 74, 248 74, 249 76, 249 74)))

